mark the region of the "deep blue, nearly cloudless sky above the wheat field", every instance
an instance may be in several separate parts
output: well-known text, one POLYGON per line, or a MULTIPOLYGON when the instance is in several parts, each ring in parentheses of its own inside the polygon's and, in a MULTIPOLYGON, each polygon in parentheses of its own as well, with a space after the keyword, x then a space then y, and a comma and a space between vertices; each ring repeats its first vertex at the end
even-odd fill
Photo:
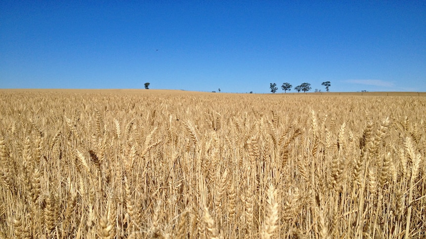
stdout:
POLYGON ((426 1, 0 1, 0 88, 324 81, 425 92, 426 1))

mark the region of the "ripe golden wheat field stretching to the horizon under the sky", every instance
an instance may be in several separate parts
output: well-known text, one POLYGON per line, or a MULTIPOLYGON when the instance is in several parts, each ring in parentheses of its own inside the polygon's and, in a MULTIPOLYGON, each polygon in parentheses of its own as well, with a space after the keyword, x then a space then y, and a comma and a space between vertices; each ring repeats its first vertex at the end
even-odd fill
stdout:
POLYGON ((426 237, 424 96, 0 99, 0 238, 426 237))

